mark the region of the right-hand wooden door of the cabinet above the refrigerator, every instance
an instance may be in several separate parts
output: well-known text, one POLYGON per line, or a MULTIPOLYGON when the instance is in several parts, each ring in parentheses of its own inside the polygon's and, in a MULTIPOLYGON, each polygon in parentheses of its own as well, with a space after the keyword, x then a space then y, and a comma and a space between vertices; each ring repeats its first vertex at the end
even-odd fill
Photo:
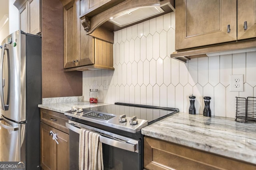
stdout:
POLYGON ((41 33, 41 0, 30 0, 28 3, 28 31, 41 33))

